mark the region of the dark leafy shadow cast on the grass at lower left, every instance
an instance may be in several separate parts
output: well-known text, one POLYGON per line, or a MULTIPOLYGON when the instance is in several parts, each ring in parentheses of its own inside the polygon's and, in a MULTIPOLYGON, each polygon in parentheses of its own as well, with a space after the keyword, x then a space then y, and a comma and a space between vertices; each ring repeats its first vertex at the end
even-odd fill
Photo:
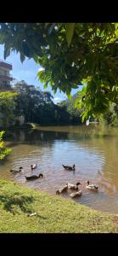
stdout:
POLYGON ((34 198, 27 195, 0 195, 0 202, 3 202, 4 210, 14 214, 18 212, 18 208, 25 213, 31 212, 31 203, 33 201, 35 201, 34 198))

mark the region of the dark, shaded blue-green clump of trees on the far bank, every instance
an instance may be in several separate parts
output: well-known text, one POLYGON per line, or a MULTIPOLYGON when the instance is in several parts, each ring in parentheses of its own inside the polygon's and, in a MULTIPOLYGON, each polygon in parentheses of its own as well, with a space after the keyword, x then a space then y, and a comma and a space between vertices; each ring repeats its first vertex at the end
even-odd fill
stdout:
MULTIPOLYGON (((28 85, 25 81, 14 84, 14 90, 19 93, 15 116, 24 115, 25 122, 37 123, 39 125, 59 125, 81 123, 81 118, 75 117, 66 104, 56 105, 53 103, 53 96, 50 92, 42 92, 34 85, 28 85)), ((73 105, 70 106, 73 109, 73 105)), ((78 113, 80 115, 80 112, 78 113)))

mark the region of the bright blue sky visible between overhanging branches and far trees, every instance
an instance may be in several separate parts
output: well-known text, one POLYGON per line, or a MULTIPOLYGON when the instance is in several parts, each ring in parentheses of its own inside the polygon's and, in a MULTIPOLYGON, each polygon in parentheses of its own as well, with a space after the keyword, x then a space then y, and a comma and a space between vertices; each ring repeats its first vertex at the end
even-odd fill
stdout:
MULTIPOLYGON (((0 60, 4 61, 2 44, 0 44, 0 60)), ((8 61, 12 64, 13 70, 10 73, 14 79, 16 79, 17 81, 25 80, 27 84, 33 84, 33 85, 39 86, 41 90, 45 91, 43 89, 43 84, 41 84, 41 82, 37 79, 37 71, 39 68, 41 68, 41 66, 37 65, 37 63, 33 59, 29 60, 26 57, 25 61, 22 63, 20 61, 20 54, 11 52, 11 54, 6 58, 5 61, 8 61)), ((46 90, 50 91, 51 94, 53 95, 54 103, 64 101, 67 98, 65 93, 63 92, 60 93, 59 90, 54 95, 49 85, 46 90)), ((74 95, 77 90, 76 89, 71 90, 71 95, 74 95)))

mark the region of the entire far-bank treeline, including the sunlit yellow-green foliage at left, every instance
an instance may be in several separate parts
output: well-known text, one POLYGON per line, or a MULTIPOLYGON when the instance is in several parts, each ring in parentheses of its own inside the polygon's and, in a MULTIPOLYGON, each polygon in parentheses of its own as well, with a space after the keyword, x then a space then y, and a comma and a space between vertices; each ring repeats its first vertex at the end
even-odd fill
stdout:
POLYGON ((24 80, 14 84, 14 90, 0 92, 0 125, 20 125, 20 117, 25 123, 39 125, 81 124, 81 111, 75 109, 75 96, 71 101, 53 103, 49 91, 42 91, 24 80))

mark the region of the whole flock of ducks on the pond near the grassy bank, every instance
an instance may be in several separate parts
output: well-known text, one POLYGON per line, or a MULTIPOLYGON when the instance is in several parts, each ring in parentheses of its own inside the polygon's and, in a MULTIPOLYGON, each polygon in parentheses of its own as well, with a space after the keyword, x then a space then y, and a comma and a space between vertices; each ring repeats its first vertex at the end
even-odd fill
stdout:
MULTIPOLYGON (((62 166, 67 171, 75 171, 75 169, 76 169, 75 165, 73 165, 73 166, 64 166, 64 165, 62 165, 62 166)), ((31 165, 31 170, 34 170, 36 168, 37 168, 37 164, 31 165)), ((20 166, 19 170, 17 170, 17 171, 16 170, 10 170, 10 172, 18 173, 18 172, 22 172, 22 170, 23 170, 23 167, 20 166)), ((28 176, 28 177, 25 176, 25 180, 26 181, 31 181, 31 180, 35 180, 35 179, 40 178, 40 177, 43 177, 42 173, 40 173, 38 175, 31 175, 31 176, 28 176)), ((80 182, 77 182, 76 184, 66 183, 64 187, 62 187, 62 188, 60 188, 56 191, 56 195, 60 195, 62 193, 65 193, 69 189, 69 190, 75 190, 75 192, 70 193, 71 198, 81 196, 81 190, 79 189, 79 185, 81 185, 80 182)), ((89 180, 87 181, 86 188, 89 189, 89 190, 92 190, 93 192, 98 192, 98 185, 90 184, 89 180)))

